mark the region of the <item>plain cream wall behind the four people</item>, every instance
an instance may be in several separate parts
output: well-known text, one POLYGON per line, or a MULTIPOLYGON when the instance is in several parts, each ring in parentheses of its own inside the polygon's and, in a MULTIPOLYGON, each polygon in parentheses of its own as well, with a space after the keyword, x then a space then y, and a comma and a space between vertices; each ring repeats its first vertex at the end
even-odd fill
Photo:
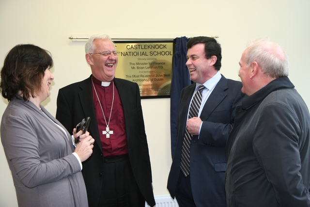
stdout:
MULTIPOLYGON (((221 73, 240 80, 239 65, 250 38, 268 36, 290 57, 289 78, 310 107, 309 0, 0 0, 0 67, 16 44, 49 50, 55 80, 44 102, 55 115, 58 89, 90 74, 85 42, 72 34, 107 33, 112 38, 216 36, 222 46, 221 73)), ((0 115, 7 100, 0 98, 0 115)), ((143 99, 155 195, 168 194, 171 165, 170 99, 143 99)), ((17 207, 11 172, 0 147, 0 207, 17 207)))

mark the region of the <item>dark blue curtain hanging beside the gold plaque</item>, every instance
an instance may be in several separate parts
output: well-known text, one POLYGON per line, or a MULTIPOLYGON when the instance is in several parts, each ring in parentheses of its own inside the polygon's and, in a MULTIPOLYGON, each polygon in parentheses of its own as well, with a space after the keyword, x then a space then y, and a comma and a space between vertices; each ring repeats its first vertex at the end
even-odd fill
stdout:
POLYGON ((171 156, 173 158, 175 151, 176 128, 178 122, 179 99, 181 91, 184 87, 190 85, 192 82, 189 79, 189 73, 186 67, 186 44, 189 38, 177 37, 175 53, 172 61, 172 78, 171 78, 171 92, 170 92, 170 125, 171 125, 171 156))

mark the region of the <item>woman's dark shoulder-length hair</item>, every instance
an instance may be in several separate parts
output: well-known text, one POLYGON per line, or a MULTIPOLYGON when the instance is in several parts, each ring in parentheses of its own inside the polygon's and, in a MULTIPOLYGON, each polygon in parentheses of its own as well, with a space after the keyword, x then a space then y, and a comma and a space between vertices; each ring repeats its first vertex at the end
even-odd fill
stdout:
POLYGON ((41 90, 45 70, 53 66, 50 52, 35 45, 16 45, 4 59, 0 92, 11 101, 20 95, 24 101, 41 90))

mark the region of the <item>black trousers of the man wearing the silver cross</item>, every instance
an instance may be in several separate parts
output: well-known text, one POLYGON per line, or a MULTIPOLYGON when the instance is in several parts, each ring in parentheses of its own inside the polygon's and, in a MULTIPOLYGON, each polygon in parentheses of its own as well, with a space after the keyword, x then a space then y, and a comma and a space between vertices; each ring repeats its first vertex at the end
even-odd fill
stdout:
POLYGON ((105 158, 98 207, 145 207, 128 155, 105 158))

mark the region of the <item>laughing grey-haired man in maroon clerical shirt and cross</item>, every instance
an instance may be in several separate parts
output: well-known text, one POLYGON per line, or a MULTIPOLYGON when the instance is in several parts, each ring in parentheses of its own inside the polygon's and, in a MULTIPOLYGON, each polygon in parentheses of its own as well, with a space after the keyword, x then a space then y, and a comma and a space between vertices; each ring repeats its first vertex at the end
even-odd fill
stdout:
POLYGON ((119 51, 109 36, 92 36, 85 52, 92 75, 59 90, 56 118, 69 130, 91 118, 93 155, 82 163, 89 207, 153 207, 139 86, 114 78, 119 51))

